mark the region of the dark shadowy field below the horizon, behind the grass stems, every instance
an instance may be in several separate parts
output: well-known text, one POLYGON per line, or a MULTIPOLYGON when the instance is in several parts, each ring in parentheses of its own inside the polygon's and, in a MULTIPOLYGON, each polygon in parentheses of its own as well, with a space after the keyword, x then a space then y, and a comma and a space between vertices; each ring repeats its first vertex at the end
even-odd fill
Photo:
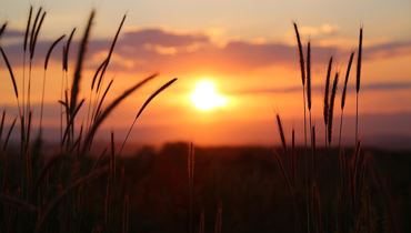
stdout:
MULTIPOLYGON (((304 153, 301 148, 295 151, 304 153)), ((337 152, 318 149, 322 232, 337 232, 339 214, 344 207, 339 201, 337 152)), ((80 185, 76 190, 79 195, 64 197, 50 214, 42 232, 121 232, 126 224, 123 211, 129 211, 129 232, 189 232, 189 144, 174 143, 160 150, 143 148, 132 155, 118 158, 118 183, 111 194, 110 206, 107 206, 107 176, 98 178, 80 185), (127 193, 126 199, 123 193, 127 193), (108 231, 104 223, 107 207, 113 209, 113 214, 107 220, 112 231, 108 231)), ((352 154, 353 149, 347 149, 347 153, 352 154)), ((361 214, 364 220, 357 232, 410 232, 411 152, 364 149, 362 153, 367 154, 370 164, 364 178, 367 192, 361 196, 368 212, 361 214)), ((305 200, 290 195, 273 149, 196 148, 191 158, 194 164, 192 232, 304 232, 305 200), (299 222, 295 222, 294 202, 299 222), (220 226, 219 221, 222 223, 220 226)), ((289 168, 290 160, 282 159, 283 165, 289 168)), ((47 161, 41 163, 47 164, 47 161)), ((110 164, 110 160, 106 158, 99 163, 110 164)), ((96 158, 87 159, 78 169, 83 170, 87 164, 96 164, 96 158)), ((16 171, 21 164, 13 161, 9 168, 12 179, 9 179, 8 186, 18 190, 21 176, 16 171)), ((50 171, 53 176, 47 178, 48 185, 54 189, 42 193, 43 199, 61 193, 63 182, 70 179, 70 174, 64 172, 69 168, 69 161, 61 161, 50 171)), ((303 176, 304 164, 299 162, 297 168, 295 175, 303 176)), ((295 186, 295 196, 304 196, 301 180, 295 186)), ((2 232, 31 232, 36 219, 28 212, 29 206, 19 206, 19 203, 1 206, 2 232)))

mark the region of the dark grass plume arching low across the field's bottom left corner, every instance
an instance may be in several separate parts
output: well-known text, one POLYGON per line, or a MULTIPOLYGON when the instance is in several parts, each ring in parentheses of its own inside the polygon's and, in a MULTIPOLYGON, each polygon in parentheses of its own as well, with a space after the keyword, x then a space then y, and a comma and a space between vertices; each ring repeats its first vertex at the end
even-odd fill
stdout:
POLYGON ((69 194, 71 193, 72 191, 74 191, 78 186, 81 186, 92 180, 96 180, 98 178, 100 178, 101 175, 106 174, 107 172, 109 172, 110 168, 109 166, 102 166, 98 170, 94 170, 92 172, 90 172, 89 174, 78 179, 77 181, 74 181, 72 184, 70 184, 68 188, 66 188, 57 197, 54 197, 53 200, 51 200, 47 205, 46 207, 43 209, 43 211, 40 213, 40 215, 38 216, 37 219, 37 222, 36 222, 36 233, 38 232, 41 232, 41 229, 46 222, 46 220, 49 217, 49 215, 51 214, 51 212, 58 206, 58 204, 69 194))

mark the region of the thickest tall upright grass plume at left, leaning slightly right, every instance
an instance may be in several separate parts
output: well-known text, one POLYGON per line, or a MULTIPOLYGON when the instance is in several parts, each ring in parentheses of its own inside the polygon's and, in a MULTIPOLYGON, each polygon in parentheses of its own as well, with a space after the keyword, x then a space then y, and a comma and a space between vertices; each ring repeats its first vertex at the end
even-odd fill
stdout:
MULTIPOLYGON (((89 18, 89 21, 87 23, 84 34, 83 34, 83 37, 81 39, 81 42, 80 42, 80 48, 79 48, 77 64, 76 64, 76 71, 74 71, 74 78, 73 78, 73 82, 72 82, 72 85, 71 85, 70 113, 69 113, 70 118, 74 118, 74 110, 77 108, 77 99, 78 99, 78 95, 79 95, 79 92, 80 92, 81 71, 82 71, 82 67, 83 67, 83 63, 84 63, 84 57, 86 57, 86 52, 87 52, 87 45, 88 45, 88 42, 89 42, 89 37, 90 37, 90 31, 91 31, 91 26, 92 26, 93 19, 94 19, 94 10, 91 11, 91 13, 90 13, 90 18, 89 18)), ((68 51, 68 48, 67 48, 67 51, 68 51)))

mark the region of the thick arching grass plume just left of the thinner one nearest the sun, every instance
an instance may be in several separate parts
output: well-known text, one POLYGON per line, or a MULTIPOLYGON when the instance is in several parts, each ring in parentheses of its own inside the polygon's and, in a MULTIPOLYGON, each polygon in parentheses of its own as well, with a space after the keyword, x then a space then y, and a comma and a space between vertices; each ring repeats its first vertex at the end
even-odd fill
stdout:
POLYGON ((91 145, 91 141, 97 132, 97 130, 100 128, 101 123, 107 119, 107 116, 130 94, 132 94, 136 90, 140 89, 142 85, 144 85, 147 82, 156 78, 158 74, 154 73, 142 81, 138 82, 137 84, 132 85, 131 88, 127 89, 122 94, 120 94, 118 98, 116 98, 107 108, 103 110, 100 114, 99 118, 96 119, 93 124, 91 125, 89 132, 87 133, 84 138, 84 143, 83 143, 83 150, 82 154, 84 154, 86 150, 91 145))

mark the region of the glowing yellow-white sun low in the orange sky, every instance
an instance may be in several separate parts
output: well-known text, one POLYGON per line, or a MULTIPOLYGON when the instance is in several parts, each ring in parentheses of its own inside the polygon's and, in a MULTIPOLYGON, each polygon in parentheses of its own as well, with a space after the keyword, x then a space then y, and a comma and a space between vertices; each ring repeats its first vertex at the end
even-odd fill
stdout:
POLYGON ((196 83, 191 102, 198 110, 210 111, 227 105, 227 98, 218 93, 212 81, 201 80, 196 83))

